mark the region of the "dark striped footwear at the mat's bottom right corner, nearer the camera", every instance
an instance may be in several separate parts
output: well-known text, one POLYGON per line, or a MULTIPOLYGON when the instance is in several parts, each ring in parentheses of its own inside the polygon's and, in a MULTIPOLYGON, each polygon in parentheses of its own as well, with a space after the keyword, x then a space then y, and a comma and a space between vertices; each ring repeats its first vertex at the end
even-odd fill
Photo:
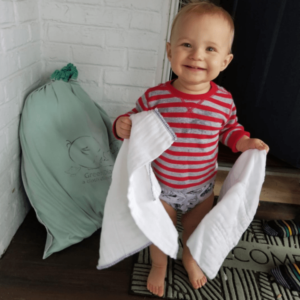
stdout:
POLYGON ((300 291, 300 263, 288 263, 276 266, 270 270, 277 283, 300 291))

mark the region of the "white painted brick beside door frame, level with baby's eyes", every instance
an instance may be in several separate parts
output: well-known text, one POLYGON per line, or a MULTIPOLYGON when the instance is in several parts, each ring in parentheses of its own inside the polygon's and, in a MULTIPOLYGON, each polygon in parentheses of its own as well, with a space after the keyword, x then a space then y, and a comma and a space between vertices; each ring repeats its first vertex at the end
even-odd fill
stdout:
POLYGON ((107 30, 106 45, 135 49, 157 50, 159 34, 140 30, 107 30))

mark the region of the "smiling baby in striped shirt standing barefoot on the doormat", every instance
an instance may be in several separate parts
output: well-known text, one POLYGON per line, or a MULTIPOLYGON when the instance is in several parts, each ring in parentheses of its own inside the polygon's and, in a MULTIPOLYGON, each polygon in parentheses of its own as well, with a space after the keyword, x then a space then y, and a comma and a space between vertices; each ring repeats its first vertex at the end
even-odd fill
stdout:
MULTIPOLYGON (((166 44, 167 57, 178 78, 149 88, 135 108, 115 120, 113 130, 116 137, 129 138, 129 115, 157 108, 175 132, 177 140, 152 162, 152 169, 161 186, 160 200, 174 224, 176 211, 182 212, 182 263, 197 289, 207 279, 186 241, 212 207, 218 141, 234 152, 250 148, 268 151, 268 146, 249 138, 237 122, 231 94, 211 81, 233 58, 232 18, 212 3, 194 2, 178 12, 166 44)), ((162 296, 167 257, 154 244, 150 245, 150 256, 147 289, 162 296)))

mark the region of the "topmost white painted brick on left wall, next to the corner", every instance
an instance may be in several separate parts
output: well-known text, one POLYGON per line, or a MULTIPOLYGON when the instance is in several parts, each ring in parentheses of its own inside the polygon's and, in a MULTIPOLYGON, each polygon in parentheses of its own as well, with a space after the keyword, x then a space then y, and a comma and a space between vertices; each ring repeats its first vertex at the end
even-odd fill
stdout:
POLYGON ((38 7, 36 0, 16 1, 15 15, 19 22, 38 19, 38 7))

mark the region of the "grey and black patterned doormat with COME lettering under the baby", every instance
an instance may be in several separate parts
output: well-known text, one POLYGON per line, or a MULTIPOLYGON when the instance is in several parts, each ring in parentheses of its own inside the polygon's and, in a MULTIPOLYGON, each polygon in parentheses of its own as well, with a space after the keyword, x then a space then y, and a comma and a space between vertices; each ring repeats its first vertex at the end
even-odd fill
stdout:
MULTIPOLYGON (((178 215, 179 220, 180 215, 178 215)), ((263 220, 253 220, 236 247, 224 260, 217 276, 197 290, 189 283, 182 266, 181 232, 179 232, 178 259, 168 258, 163 299, 186 300, 300 300, 300 293, 277 284, 269 270, 277 265, 300 262, 300 236, 285 238, 264 234, 263 220)), ((149 250, 134 255, 129 293, 153 296, 146 288, 150 270, 149 250)))

